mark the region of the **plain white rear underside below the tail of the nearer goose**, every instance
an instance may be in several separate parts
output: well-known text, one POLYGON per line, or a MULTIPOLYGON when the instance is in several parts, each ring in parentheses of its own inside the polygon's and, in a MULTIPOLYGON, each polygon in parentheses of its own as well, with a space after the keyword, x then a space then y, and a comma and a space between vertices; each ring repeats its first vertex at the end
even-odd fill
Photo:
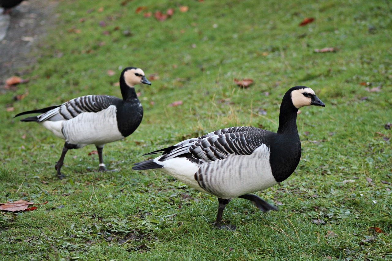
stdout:
POLYGON ((199 186, 198 182, 194 178, 195 173, 198 171, 200 165, 193 163, 184 157, 171 158, 165 161, 159 161, 160 158, 162 158, 162 156, 153 159, 155 163, 163 166, 163 168, 157 170, 169 174, 170 176, 180 180, 192 188, 207 192, 199 186))

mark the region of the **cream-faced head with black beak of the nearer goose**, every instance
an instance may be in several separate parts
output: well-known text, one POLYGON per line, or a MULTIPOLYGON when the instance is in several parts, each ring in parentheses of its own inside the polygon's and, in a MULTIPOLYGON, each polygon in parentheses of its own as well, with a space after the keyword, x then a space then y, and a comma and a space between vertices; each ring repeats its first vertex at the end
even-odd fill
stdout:
POLYGON ((304 106, 310 106, 310 105, 316 105, 316 106, 321 106, 325 107, 325 103, 323 103, 314 93, 312 89, 306 86, 296 86, 292 87, 289 89, 288 93, 291 94, 291 101, 294 107, 297 109, 304 107, 304 106))

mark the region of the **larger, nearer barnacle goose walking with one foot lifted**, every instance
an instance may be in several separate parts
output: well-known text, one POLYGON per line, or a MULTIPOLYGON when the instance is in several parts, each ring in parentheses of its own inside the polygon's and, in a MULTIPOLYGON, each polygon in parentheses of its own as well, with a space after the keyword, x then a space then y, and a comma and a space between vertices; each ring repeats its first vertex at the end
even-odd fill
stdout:
POLYGON ((135 163, 132 169, 157 169, 218 197, 214 225, 235 229, 235 226, 222 224, 223 210, 233 198, 250 200, 263 212, 277 210, 249 193, 272 187, 294 172, 301 158, 297 112, 308 105, 325 106, 309 87, 292 87, 283 96, 278 132, 255 127, 216 130, 146 153, 144 155, 162 155, 135 163))

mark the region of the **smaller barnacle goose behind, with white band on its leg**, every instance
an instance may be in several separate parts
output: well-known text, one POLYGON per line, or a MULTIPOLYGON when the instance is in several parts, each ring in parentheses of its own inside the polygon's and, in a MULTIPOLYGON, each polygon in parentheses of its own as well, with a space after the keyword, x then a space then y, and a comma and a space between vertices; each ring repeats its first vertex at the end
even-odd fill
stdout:
POLYGON ((143 107, 134 89, 134 85, 141 83, 151 85, 142 69, 127 67, 120 76, 122 99, 108 95, 81 96, 61 105, 21 112, 15 117, 41 113, 20 121, 38 122, 65 140, 61 157, 54 166, 58 178, 64 178, 60 170, 67 151, 89 144, 97 148, 99 171, 105 171, 103 146, 131 135, 142 121, 143 107))

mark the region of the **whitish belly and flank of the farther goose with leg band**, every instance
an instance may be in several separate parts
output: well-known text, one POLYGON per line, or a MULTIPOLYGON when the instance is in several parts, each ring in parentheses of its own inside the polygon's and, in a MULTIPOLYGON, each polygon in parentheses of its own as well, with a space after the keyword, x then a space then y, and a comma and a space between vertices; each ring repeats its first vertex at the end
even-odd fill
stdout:
POLYGON ((66 141, 83 147, 88 144, 103 145, 121 140, 117 126, 116 107, 109 106, 99 112, 83 112, 64 122, 62 132, 66 141))

